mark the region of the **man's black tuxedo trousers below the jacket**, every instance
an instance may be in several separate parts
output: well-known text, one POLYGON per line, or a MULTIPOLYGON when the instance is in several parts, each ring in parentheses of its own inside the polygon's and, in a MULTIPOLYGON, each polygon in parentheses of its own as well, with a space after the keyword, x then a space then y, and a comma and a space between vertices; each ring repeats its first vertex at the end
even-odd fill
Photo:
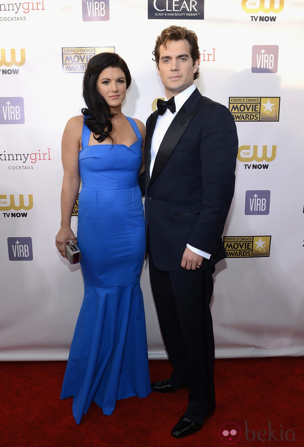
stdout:
POLYGON ((150 281, 158 321, 174 368, 170 385, 189 389, 184 414, 203 422, 215 408, 214 335, 210 301, 212 273, 206 270, 170 272, 154 266, 149 250, 150 281))

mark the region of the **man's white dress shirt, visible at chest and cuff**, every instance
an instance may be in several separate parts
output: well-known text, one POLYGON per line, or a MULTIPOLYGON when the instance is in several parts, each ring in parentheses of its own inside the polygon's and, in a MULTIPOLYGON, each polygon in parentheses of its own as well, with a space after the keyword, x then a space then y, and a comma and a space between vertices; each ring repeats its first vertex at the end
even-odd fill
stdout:
MULTIPOLYGON (((163 141, 163 137, 165 136, 165 133, 167 132, 171 122, 173 121, 174 117, 176 116, 177 112, 180 111, 181 107, 184 105, 184 103, 187 101, 187 99, 192 95, 194 90, 196 89, 195 85, 192 84, 188 89, 185 89, 183 92, 178 93, 174 97, 174 102, 176 106, 176 111, 173 114, 169 109, 166 110, 166 112, 163 115, 159 115, 156 121, 154 134, 152 137, 151 142, 151 163, 150 163, 150 178, 152 175, 153 167, 155 158, 160 146, 160 143, 163 141)), ((165 101, 167 101, 167 97, 165 97, 165 101)), ((195 247, 192 247, 191 245, 187 244, 188 249, 193 251, 194 253, 206 257, 206 259, 210 259, 210 253, 203 252, 202 250, 199 250, 195 247)))

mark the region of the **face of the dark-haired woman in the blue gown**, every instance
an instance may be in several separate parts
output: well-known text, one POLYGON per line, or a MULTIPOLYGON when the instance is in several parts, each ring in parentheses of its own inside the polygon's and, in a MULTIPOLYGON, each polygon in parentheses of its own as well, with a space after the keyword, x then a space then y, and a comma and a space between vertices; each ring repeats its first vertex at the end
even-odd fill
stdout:
POLYGON ((119 107, 126 97, 124 72, 117 67, 105 68, 98 76, 96 89, 111 108, 119 107))

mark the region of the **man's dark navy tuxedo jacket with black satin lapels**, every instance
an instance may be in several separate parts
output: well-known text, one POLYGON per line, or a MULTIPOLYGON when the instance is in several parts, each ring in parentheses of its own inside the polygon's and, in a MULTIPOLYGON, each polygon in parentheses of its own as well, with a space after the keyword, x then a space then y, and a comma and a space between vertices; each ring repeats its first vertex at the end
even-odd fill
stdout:
POLYGON ((186 244, 211 253, 202 269, 226 257, 222 233, 235 187, 238 138, 229 110, 197 89, 168 128, 150 178, 158 111, 146 124, 146 234, 154 265, 184 271, 186 244))

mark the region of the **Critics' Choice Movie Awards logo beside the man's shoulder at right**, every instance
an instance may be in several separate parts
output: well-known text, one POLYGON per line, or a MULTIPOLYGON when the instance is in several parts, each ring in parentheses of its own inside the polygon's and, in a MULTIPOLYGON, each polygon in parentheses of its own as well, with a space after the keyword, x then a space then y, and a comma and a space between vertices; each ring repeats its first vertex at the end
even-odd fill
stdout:
POLYGON ((278 121, 280 97, 229 97, 229 110, 235 121, 278 121))

